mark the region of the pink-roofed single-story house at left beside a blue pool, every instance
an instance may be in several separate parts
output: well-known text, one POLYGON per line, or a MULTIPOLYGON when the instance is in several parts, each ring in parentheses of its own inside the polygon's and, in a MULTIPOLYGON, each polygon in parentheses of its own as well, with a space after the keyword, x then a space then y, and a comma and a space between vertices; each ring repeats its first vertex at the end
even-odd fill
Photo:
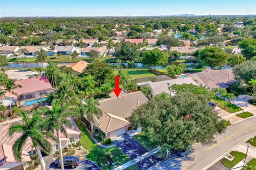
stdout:
MULTIPOLYGON (((13 92, 18 94, 18 97, 11 93, 11 105, 23 105, 24 103, 24 105, 28 105, 27 103, 29 101, 31 101, 30 104, 33 105, 32 101, 34 100, 30 99, 44 98, 47 94, 54 90, 50 81, 46 77, 35 77, 26 80, 15 81, 14 83, 15 85, 21 85, 22 87, 18 87, 13 90, 13 92)), ((5 106, 10 105, 9 92, 6 92, 6 94, 2 97, 0 104, 5 106)))

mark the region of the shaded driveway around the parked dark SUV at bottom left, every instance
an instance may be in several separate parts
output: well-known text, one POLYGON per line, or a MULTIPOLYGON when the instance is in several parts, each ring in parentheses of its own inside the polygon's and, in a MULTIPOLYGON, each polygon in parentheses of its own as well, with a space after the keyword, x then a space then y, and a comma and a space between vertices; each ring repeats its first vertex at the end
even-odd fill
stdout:
MULTIPOLYGON (((60 169, 54 166, 54 162, 50 165, 48 170, 60 169)), ((86 170, 101 170, 97 165, 93 164, 89 160, 81 160, 80 164, 76 168, 65 167, 65 169, 86 169, 86 170)))

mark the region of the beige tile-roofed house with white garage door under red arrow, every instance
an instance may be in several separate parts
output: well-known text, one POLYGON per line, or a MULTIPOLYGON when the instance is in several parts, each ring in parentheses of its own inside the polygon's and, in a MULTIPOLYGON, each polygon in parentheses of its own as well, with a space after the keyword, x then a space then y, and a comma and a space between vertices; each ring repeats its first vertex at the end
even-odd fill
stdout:
MULTIPOLYGON (((94 115, 93 126, 104 132, 106 138, 122 135, 127 132, 131 124, 129 121, 133 109, 147 103, 147 101, 148 98, 141 91, 122 94, 118 98, 113 96, 102 99, 99 101, 99 106, 97 106, 101 109, 102 115, 100 117, 94 115)), ((86 115, 84 118, 87 120, 86 115)))

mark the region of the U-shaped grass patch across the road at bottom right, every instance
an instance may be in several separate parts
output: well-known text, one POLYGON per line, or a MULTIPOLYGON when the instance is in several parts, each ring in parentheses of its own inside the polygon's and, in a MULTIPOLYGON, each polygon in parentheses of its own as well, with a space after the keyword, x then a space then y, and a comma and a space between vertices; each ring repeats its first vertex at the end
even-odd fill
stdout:
POLYGON ((231 151, 230 155, 233 155, 235 158, 233 160, 228 160, 227 158, 220 159, 222 165, 233 168, 236 164, 238 164, 241 160, 245 158, 245 154, 238 151, 231 151))

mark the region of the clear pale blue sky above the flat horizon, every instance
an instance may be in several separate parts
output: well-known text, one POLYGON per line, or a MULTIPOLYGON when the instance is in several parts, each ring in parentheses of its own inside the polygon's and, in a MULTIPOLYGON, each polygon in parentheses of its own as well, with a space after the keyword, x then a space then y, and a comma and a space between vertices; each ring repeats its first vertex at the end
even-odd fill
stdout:
POLYGON ((0 16, 256 14, 255 0, 0 0, 0 16))

